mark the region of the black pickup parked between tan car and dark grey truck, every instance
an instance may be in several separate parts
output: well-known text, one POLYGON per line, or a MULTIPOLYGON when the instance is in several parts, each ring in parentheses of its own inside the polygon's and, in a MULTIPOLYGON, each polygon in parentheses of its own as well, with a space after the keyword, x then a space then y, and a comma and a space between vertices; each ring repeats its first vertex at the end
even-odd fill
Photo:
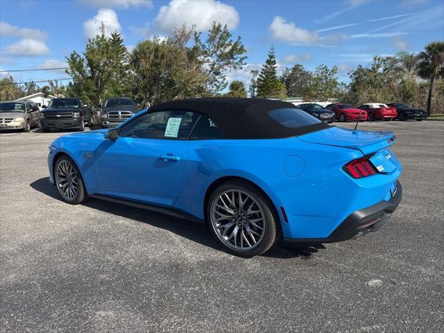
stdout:
POLYGON ((85 130, 85 123, 92 126, 91 108, 80 99, 52 99, 47 108, 40 112, 40 125, 44 133, 51 128, 73 128, 85 130))

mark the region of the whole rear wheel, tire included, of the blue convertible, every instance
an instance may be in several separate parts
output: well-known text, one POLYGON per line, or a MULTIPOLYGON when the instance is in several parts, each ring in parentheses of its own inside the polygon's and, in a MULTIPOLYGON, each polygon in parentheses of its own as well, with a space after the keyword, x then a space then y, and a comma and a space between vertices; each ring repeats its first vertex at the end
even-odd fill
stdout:
POLYGON ((242 181, 219 185, 210 195, 206 207, 207 222, 214 237, 230 253, 246 258, 261 255, 280 238, 278 217, 273 212, 270 200, 259 189, 242 181), (223 219, 224 216, 228 219, 223 219), (224 228, 225 225, 228 226, 224 228), (234 233, 234 230, 237 231, 234 233), (239 230, 243 234, 239 234, 239 230))

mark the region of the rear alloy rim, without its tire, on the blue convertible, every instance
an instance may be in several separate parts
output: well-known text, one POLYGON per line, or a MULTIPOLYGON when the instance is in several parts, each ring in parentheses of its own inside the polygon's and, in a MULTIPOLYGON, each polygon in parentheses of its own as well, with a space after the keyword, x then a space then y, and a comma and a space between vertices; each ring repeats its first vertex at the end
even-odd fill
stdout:
POLYGON ((211 223, 217 237, 235 250, 251 250, 264 238, 265 214, 257 200, 240 189, 228 189, 214 198, 211 223))

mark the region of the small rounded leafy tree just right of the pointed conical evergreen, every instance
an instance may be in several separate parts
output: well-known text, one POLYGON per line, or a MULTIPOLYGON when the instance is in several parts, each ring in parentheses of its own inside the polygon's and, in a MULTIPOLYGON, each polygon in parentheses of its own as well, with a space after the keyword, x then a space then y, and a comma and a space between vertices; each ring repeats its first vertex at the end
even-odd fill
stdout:
POLYGON ((280 76, 280 81, 287 89, 287 96, 305 96, 312 80, 313 74, 299 64, 294 65, 291 69, 286 68, 280 76))

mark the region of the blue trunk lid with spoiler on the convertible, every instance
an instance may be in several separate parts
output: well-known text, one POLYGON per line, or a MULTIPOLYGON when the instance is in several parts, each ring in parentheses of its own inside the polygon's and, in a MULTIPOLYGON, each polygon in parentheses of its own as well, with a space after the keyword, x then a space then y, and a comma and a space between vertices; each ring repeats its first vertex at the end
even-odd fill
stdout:
POLYGON ((367 155, 393 144, 396 141, 395 139, 387 142, 393 136, 393 132, 350 130, 332 126, 325 130, 301 135, 298 139, 312 144, 358 149, 364 155, 367 155))

